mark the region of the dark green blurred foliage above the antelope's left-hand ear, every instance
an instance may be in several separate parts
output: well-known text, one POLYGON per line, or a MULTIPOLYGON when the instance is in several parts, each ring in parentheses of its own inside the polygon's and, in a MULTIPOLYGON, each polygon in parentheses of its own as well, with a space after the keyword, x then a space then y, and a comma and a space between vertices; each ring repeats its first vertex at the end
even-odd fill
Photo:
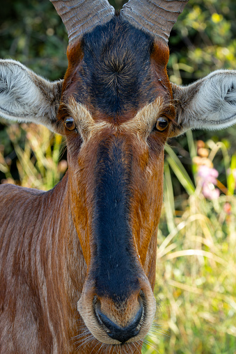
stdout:
POLYGON ((68 65, 68 36, 48 0, 6 1, 0 12, 1 58, 13 58, 50 80, 68 65))

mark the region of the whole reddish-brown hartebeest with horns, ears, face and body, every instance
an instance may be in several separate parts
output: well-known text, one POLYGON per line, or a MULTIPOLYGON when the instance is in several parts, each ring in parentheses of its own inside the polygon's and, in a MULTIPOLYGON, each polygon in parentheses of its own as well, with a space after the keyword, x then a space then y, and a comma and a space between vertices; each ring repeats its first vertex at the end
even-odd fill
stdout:
POLYGON ((0 61, 1 115, 65 135, 69 166, 52 191, 0 188, 0 353, 137 354, 155 316, 164 144, 233 124, 236 72, 170 83, 187 0, 116 14, 107 0, 52 2, 69 36, 64 81, 0 61))

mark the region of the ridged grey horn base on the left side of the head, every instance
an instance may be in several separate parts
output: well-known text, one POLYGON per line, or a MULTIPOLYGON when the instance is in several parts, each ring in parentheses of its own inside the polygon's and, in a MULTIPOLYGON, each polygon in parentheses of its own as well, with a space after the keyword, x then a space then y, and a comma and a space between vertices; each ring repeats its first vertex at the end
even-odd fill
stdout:
POLYGON ((69 44, 80 35, 92 31, 98 24, 105 24, 115 10, 107 0, 50 0, 63 20, 69 44))

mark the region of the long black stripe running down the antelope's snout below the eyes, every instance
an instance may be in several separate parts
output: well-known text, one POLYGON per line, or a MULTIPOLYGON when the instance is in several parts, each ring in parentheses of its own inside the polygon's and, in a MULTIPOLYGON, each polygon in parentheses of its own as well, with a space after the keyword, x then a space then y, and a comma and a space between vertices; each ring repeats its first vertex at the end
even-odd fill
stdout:
POLYGON ((129 228, 132 155, 116 138, 100 143, 95 170, 95 280, 98 296, 126 298, 136 289, 129 228))

